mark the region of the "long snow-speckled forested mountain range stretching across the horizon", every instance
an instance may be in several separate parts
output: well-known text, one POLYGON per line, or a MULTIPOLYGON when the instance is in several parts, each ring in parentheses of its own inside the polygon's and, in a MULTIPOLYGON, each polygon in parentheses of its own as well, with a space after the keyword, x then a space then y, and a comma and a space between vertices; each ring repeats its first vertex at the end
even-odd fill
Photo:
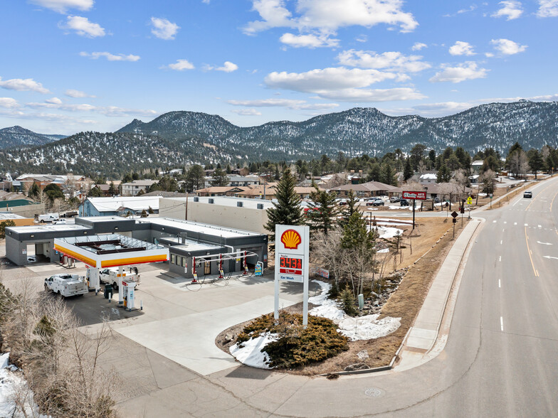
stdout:
POLYGON ((135 119, 115 133, 80 132, 40 146, 2 150, 0 166, 3 171, 120 176, 191 163, 334 157, 339 151, 347 156, 381 156, 397 148, 409 151, 418 143, 436 152, 462 146, 474 154, 493 147, 505 155, 516 141, 524 149, 557 147, 558 102, 481 104, 436 118, 391 117, 374 108, 354 108, 257 127, 238 127, 218 115, 169 112, 151 122, 135 119))

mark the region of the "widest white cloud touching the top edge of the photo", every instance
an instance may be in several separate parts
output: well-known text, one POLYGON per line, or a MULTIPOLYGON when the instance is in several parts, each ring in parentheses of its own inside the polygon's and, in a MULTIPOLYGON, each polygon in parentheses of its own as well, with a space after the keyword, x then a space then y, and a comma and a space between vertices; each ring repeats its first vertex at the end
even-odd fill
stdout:
POLYGON ((262 20, 248 23, 244 28, 248 34, 279 27, 332 33, 345 26, 369 28, 380 23, 410 32, 418 26, 414 16, 401 9, 401 0, 297 0, 298 16, 293 16, 285 0, 253 0, 252 4, 262 20))

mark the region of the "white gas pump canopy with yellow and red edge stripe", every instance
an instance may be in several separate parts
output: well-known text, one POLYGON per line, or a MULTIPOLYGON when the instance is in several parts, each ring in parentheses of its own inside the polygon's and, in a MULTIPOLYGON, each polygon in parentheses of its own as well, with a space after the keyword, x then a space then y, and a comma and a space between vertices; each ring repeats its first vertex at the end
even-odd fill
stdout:
POLYGON ((117 234, 55 238, 54 249, 96 268, 166 262, 169 259, 169 249, 162 245, 117 234))

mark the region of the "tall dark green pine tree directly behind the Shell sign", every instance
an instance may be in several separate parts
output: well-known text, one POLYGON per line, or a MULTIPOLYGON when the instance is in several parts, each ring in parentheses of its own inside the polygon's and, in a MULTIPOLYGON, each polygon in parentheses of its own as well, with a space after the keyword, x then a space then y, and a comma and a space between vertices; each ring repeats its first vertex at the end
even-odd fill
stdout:
POLYGON ((268 223, 265 229, 271 232, 271 240, 275 240, 275 225, 302 225, 304 219, 300 209, 300 196, 295 193, 295 178, 290 168, 285 168, 283 177, 278 183, 273 208, 269 208, 268 223))

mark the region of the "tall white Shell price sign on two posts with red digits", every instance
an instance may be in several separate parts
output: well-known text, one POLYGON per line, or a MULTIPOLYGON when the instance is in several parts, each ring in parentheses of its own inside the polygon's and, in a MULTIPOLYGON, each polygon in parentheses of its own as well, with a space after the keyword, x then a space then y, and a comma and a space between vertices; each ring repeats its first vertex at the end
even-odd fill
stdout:
POLYGON ((275 322, 279 320, 279 281, 302 283, 302 326, 308 325, 310 227, 275 225, 275 322))

